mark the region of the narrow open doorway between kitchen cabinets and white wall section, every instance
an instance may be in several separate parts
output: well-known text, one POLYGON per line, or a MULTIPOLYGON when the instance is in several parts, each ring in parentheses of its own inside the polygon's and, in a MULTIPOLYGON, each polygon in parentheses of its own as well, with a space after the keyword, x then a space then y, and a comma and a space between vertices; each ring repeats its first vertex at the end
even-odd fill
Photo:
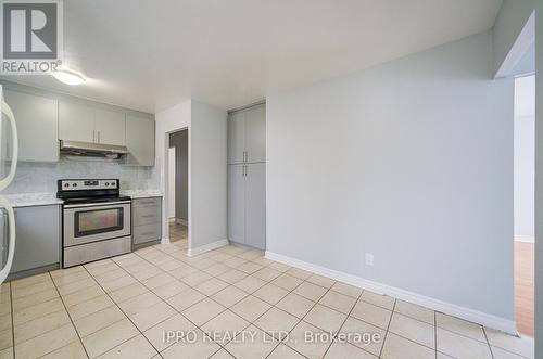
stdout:
POLYGON ((188 246, 189 234, 189 133, 172 132, 168 148, 168 226, 169 242, 188 246))

